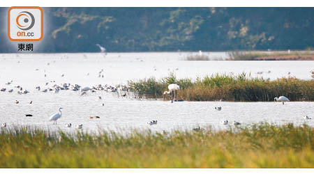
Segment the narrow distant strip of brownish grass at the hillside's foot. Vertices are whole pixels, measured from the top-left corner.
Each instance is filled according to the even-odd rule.
[[[314,52],[228,52],[229,61],[297,60],[314,56]]]

